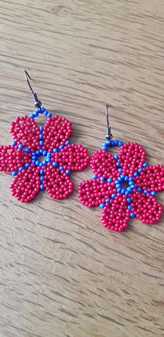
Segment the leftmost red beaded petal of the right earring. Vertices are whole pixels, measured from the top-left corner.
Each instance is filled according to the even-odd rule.
[[[78,197],[85,206],[99,206],[101,203],[104,204],[106,199],[115,191],[113,183],[106,183],[99,179],[90,179],[79,183]]]

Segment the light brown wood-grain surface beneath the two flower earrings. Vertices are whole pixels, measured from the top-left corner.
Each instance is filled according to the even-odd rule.
[[[164,162],[163,0],[1,0],[0,13],[1,144],[16,115],[33,111],[27,69],[90,155],[104,141],[108,102],[115,138]],[[1,337],[163,336],[164,217],[105,230],[101,211],[77,198],[91,174],[72,174],[67,200],[40,192],[21,204],[1,173]]]

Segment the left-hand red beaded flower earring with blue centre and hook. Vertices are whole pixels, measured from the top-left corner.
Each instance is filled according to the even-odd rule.
[[[65,117],[52,116],[38,100],[31,88],[28,72],[24,71],[31,89],[35,111],[31,115],[16,117],[11,123],[12,145],[0,145],[0,171],[11,172],[12,195],[20,202],[30,202],[40,190],[46,189],[54,199],[65,199],[73,192],[69,179],[72,171],[88,166],[88,150],[72,144],[69,135],[72,124]],[[44,115],[44,126],[35,123],[35,117]]]

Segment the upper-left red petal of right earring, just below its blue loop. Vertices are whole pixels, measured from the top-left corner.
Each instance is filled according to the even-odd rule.
[[[107,151],[96,151],[91,159],[90,166],[97,176],[115,179],[118,176],[115,158]]]

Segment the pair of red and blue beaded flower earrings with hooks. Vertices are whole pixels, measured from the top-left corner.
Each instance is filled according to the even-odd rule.
[[[143,223],[159,221],[163,208],[155,199],[164,190],[164,166],[145,163],[145,150],[137,142],[113,140],[106,105],[106,142],[93,154],[69,141],[72,124],[65,117],[52,116],[33,91],[28,72],[24,71],[31,89],[35,111],[16,117],[11,123],[12,145],[0,145],[0,171],[10,172],[12,195],[20,202],[30,202],[40,190],[47,190],[53,199],[66,199],[73,192],[69,179],[72,171],[82,171],[89,163],[92,179],[79,183],[79,199],[88,207],[103,209],[101,222],[113,231],[123,231],[130,217]],[[35,118],[47,117],[44,126]],[[108,148],[120,147],[118,155]]]

